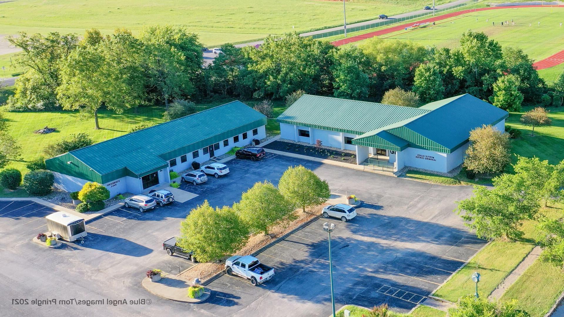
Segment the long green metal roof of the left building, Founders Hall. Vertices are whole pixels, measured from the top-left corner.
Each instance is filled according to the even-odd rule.
[[[102,175],[102,182],[108,182],[126,175],[140,177],[152,173],[168,166],[168,160],[174,157],[263,125],[266,125],[266,116],[237,100],[68,154],[95,171],[95,174]],[[64,158],[50,158],[47,164],[64,174],[69,174],[64,168],[77,169],[59,164],[58,160]],[[91,178],[96,177],[90,175]]]

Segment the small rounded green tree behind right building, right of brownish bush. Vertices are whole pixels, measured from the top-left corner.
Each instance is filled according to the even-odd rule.
[[[443,99],[443,81],[437,65],[423,63],[417,67],[413,78],[413,92],[424,103]]]

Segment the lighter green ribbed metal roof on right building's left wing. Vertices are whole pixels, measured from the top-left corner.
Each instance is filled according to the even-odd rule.
[[[429,110],[358,100],[303,95],[276,121],[351,134],[363,134]]]

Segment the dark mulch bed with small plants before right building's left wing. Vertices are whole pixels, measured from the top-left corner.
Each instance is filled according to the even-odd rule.
[[[325,160],[332,160],[337,162],[346,162],[356,164],[356,156],[349,152],[339,151],[337,149],[316,148],[315,146],[305,146],[298,143],[284,142],[276,140],[272,143],[266,144],[263,148],[274,149],[276,151],[289,152],[294,154],[325,158]]]

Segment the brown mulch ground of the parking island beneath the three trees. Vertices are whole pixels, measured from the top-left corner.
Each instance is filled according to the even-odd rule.
[[[240,250],[237,250],[235,254],[246,255],[257,252],[257,250],[261,249],[263,246],[266,246],[272,241],[275,241],[279,237],[301,226],[303,223],[315,218],[321,213],[321,209],[324,206],[325,205],[319,205],[306,209],[305,213],[301,209],[296,210],[296,213],[298,214],[298,218],[296,220],[287,224],[280,224],[279,226],[272,227],[269,235],[259,234],[250,236],[247,244]],[[200,263],[199,265],[193,266],[187,271],[182,272],[180,276],[187,278],[188,280],[199,278],[201,281],[205,281],[211,278],[211,276],[223,271],[224,268],[225,259],[222,259],[217,262]]]

